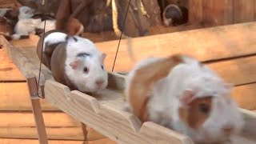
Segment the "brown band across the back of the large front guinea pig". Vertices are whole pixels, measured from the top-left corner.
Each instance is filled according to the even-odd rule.
[[[152,62],[136,71],[130,82],[129,97],[134,114],[142,122],[147,121],[146,106],[150,98],[151,86],[154,82],[166,77],[174,66],[182,62],[182,57],[177,54]]]

